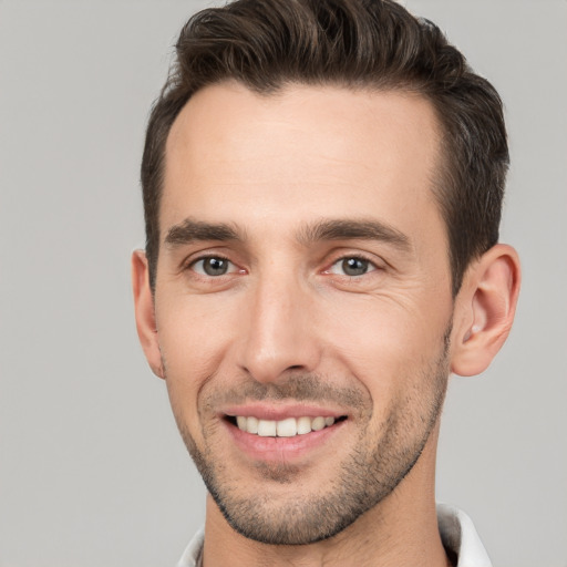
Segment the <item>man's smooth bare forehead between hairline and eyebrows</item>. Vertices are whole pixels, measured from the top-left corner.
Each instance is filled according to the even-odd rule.
[[[206,87],[167,140],[162,235],[188,216],[281,229],[338,216],[377,215],[402,230],[424,215],[440,223],[439,140],[432,105],[411,93]]]

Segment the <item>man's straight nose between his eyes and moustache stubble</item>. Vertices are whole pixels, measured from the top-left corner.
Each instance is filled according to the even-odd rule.
[[[259,279],[243,321],[239,365],[265,383],[282,381],[289,371],[315,371],[321,349],[315,303],[308,285],[297,278]]]

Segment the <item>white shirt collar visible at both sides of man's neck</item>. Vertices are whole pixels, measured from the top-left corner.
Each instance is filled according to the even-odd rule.
[[[437,504],[437,523],[443,546],[456,556],[456,567],[492,567],[473,520],[462,511]],[[185,549],[177,567],[203,567],[205,532],[199,529]]]

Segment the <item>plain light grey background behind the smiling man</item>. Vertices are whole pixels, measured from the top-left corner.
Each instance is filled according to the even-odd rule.
[[[524,286],[482,378],[454,379],[439,498],[495,565],[567,566],[567,2],[410,0],[505,103],[503,240]],[[0,0],[0,566],[174,565],[204,513],[135,334],[138,162],[206,2]]]

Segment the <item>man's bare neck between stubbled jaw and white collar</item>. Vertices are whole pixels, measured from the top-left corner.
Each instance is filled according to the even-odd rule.
[[[284,546],[248,539],[229,526],[207,496],[204,566],[450,566],[435,512],[435,437],[394,492],[337,536],[315,544]]]

